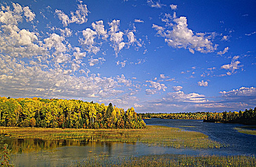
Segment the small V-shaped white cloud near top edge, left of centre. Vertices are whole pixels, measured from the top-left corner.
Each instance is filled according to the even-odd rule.
[[[87,9],[87,5],[85,4],[78,4],[77,10],[70,11],[71,18],[66,15],[62,10],[55,10],[55,14],[58,16],[59,20],[62,21],[62,24],[64,27],[68,26],[70,23],[77,23],[77,24],[83,24],[87,22],[87,16],[88,16],[89,10]]]

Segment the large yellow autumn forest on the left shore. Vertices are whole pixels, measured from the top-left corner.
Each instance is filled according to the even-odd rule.
[[[144,128],[131,107],[81,100],[0,97],[0,126],[60,128]]]

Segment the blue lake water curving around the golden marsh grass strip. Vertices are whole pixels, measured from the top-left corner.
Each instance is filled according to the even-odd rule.
[[[145,146],[116,142],[100,143],[68,140],[7,139],[11,146],[15,166],[54,167],[64,166],[85,157],[106,154],[110,157],[143,156],[154,154],[187,155],[256,155],[256,136],[238,133],[234,127],[240,124],[203,123],[202,120],[147,119],[147,125],[181,127],[184,130],[199,131],[212,140],[229,145],[220,149],[175,149],[170,147]]]

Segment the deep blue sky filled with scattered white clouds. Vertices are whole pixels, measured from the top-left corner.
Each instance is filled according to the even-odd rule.
[[[0,0],[0,96],[256,107],[256,0]]]

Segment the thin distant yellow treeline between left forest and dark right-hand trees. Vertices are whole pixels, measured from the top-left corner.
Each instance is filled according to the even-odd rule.
[[[147,118],[161,118],[161,119],[205,119],[207,117],[206,112],[195,113],[142,113],[139,114],[143,119]]]

